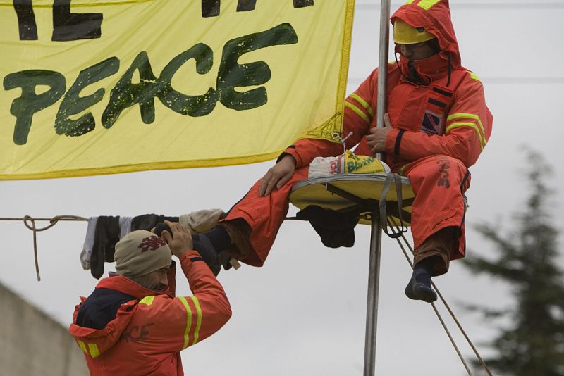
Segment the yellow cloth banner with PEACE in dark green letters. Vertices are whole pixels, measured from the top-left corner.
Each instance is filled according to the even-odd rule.
[[[0,179],[253,163],[341,129],[354,0],[0,0]]]

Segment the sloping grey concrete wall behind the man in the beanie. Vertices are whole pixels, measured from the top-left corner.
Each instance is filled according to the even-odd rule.
[[[0,376],[89,375],[67,327],[0,284]]]

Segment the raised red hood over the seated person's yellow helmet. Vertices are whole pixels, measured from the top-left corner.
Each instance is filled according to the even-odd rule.
[[[393,25],[396,18],[400,18],[414,27],[424,27],[425,30],[439,39],[441,57],[448,60],[453,68],[460,68],[462,60],[458,41],[454,32],[453,22],[450,20],[448,0],[412,0],[393,13],[390,20]],[[396,52],[399,52],[396,50]],[[446,54],[448,52],[448,54]]]

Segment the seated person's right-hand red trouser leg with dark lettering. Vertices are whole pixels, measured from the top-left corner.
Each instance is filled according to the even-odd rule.
[[[405,167],[405,175],[410,178],[415,193],[411,232],[416,251],[421,249],[431,234],[446,227],[457,227],[460,228],[460,237],[458,246],[457,242],[449,246],[450,260],[464,257],[465,208],[462,194],[470,187],[470,176],[465,180],[463,187],[460,187],[460,184],[467,170],[458,159],[441,155],[422,158]]]

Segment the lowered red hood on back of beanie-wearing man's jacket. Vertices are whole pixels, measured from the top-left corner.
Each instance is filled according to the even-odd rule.
[[[140,299],[143,299],[145,296],[165,294],[168,292],[168,290],[156,292],[147,289],[126,277],[118,275],[104,278],[97,284],[96,288],[115,290],[130,295],[135,299],[121,304],[116,313],[116,318],[109,321],[106,327],[102,329],[92,329],[90,327],[81,327],[77,324],[78,311],[80,311],[81,304],[86,301],[86,298],[80,297],[81,303],[75,307],[73,323],[69,327],[69,331],[78,341],[78,345],[82,351],[90,353],[94,358],[110,349],[120,339],[131,318],[133,318],[133,314],[137,309],[137,302]],[[97,356],[94,356],[96,354]]]

